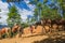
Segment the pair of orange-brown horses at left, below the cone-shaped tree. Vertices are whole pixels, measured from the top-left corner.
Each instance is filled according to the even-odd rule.
[[[0,29],[0,39],[3,38],[12,38],[14,34],[18,33],[22,31],[22,27],[17,24],[15,24],[12,28],[10,27],[4,27]]]

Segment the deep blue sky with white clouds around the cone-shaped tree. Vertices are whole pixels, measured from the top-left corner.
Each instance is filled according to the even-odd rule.
[[[25,1],[20,2],[18,4],[17,2],[8,3],[6,0],[0,0],[0,9],[1,9],[0,23],[6,24],[9,8],[13,4],[15,4],[15,6],[17,8],[18,13],[21,14],[21,17],[23,18],[23,22],[26,20],[27,16],[32,16],[35,5],[28,4],[28,2],[29,0],[25,0]]]

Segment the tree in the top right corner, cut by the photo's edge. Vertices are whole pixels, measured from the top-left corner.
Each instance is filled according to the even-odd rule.
[[[52,2],[55,2],[60,8],[60,12],[62,11],[62,15],[65,18],[65,0],[51,0]],[[51,6],[54,4],[52,3]]]

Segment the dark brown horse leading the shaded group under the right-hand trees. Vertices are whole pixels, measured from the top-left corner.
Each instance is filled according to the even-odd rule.
[[[42,33],[43,33],[43,31],[49,32],[50,31],[50,27],[51,27],[51,19],[41,19],[40,22],[37,22],[35,24],[35,29],[39,25],[42,26]]]

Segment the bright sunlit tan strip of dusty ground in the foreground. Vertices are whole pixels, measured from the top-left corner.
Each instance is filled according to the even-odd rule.
[[[47,39],[48,35],[36,35],[29,38],[12,38],[0,40],[0,43],[32,43],[34,41],[40,41]]]

